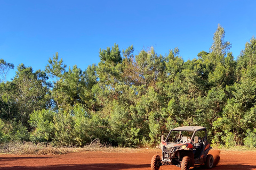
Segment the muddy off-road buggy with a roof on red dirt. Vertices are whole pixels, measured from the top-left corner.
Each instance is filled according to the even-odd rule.
[[[181,170],[199,164],[205,164],[207,168],[214,166],[214,158],[208,154],[212,147],[202,126],[183,126],[171,130],[165,140],[162,135],[159,148],[162,159],[159,155],[153,156],[152,170],[158,170],[162,165],[176,165]]]

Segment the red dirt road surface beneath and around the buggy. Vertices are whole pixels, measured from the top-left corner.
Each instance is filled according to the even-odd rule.
[[[148,169],[151,157],[158,152],[95,152],[85,151],[66,155],[5,155],[0,154],[0,169]],[[161,166],[160,169],[180,169],[175,166]],[[194,167],[203,170],[204,167]],[[256,151],[221,151],[217,169],[256,169]]]

